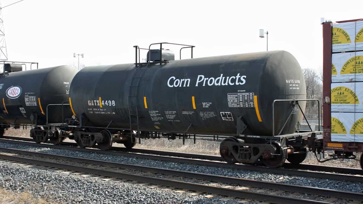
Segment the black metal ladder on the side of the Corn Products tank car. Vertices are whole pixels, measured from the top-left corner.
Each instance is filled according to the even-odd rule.
[[[142,66],[136,66],[134,76],[131,79],[130,90],[129,90],[129,119],[130,119],[130,136],[131,143],[134,142],[132,137],[132,131],[136,131],[136,135],[139,138],[139,143],[141,143],[140,132],[139,132],[139,114],[138,114],[138,87],[140,80],[144,74],[145,68]]]

